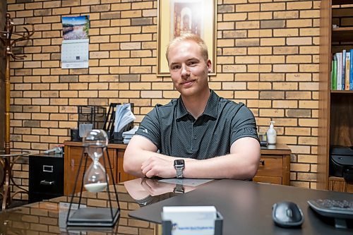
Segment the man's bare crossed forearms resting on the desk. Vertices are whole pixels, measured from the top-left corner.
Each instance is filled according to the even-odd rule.
[[[134,135],[126,147],[124,171],[138,177],[174,178],[174,159],[185,160],[185,178],[251,179],[258,169],[260,144],[255,138],[240,138],[230,147],[229,155],[198,160],[162,155],[148,138]]]

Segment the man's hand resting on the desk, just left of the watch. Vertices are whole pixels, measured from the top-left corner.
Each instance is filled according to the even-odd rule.
[[[151,178],[159,176],[162,178],[174,178],[177,171],[174,169],[174,159],[162,159],[160,157],[150,157],[141,166],[142,173]]]

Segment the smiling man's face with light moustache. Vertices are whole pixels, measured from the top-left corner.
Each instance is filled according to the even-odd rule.
[[[169,50],[168,59],[170,76],[181,96],[189,97],[209,90],[207,78],[211,61],[203,59],[196,42],[179,42]]]

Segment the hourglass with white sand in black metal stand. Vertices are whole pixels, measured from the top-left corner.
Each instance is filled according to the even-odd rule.
[[[104,138],[107,137],[107,134],[102,130],[92,130],[93,132],[100,131],[104,133]],[[88,134],[89,135],[89,134]],[[116,192],[116,186],[114,182],[114,176],[112,172],[112,164],[109,159],[109,152],[107,150],[108,138],[107,141],[100,140],[88,140],[89,137],[85,137],[83,140],[83,153],[80,158],[80,166],[83,165],[83,171],[85,174],[80,178],[80,168],[76,174],[75,185],[73,186],[73,193],[71,196],[70,206],[68,207],[68,215],[66,218],[66,224],[68,226],[80,226],[80,227],[112,227],[119,219],[120,215],[120,205],[119,198]],[[93,139],[97,136],[93,135]],[[98,137],[99,138],[99,137]],[[88,171],[88,155],[92,158],[92,164]],[[102,157],[103,167],[98,160]],[[91,170],[93,169],[93,170]],[[108,175],[108,169],[110,171],[110,176]],[[112,179],[112,185],[109,186],[109,177]],[[81,181],[80,191],[75,194],[77,182]],[[83,207],[81,204],[83,199],[83,187],[90,193],[100,193],[106,189],[108,195],[108,207]],[[114,188],[114,191],[111,191],[111,187]],[[74,203],[74,198],[78,198],[78,205]],[[117,207],[113,207],[112,200],[116,198]],[[77,200],[76,200],[77,202]],[[73,204],[77,205],[78,209],[73,210]],[[71,213],[72,212],[72,213]]]

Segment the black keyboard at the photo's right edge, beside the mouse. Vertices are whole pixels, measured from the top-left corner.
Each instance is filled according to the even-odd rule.
[[[308,200],[309,206],[325,217],[335,218],[335,227],[347,229],[345,219],[353,219],[353,200]]]

